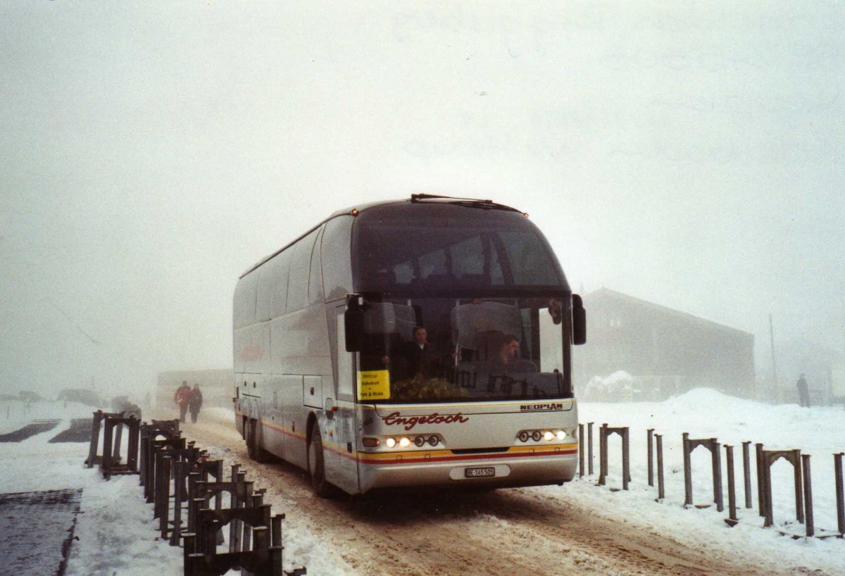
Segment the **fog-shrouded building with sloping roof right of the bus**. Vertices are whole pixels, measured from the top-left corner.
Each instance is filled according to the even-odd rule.
[[[624,398],[661,399],[701,386],[755,394],[754,334],[602,288],[584,298],[587,343],[575,348],[576,392],[613,381]],[[621,373],[620,373],[621,372]],[[580,388],[579,388],[580,387]],[[613,399],[607,397],[595,399]]]

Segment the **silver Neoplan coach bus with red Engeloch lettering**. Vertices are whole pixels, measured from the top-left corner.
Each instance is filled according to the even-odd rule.
[[[237,429],[320,496],[563,483],[584,340],[581,297],[520,211],[414,194],[336,212],[237,283]]]

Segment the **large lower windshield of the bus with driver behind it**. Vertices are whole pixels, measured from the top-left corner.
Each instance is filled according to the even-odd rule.
[[[572,396],[560,296],[364,303],[360,399],[477,402]],[[374,392],[373,392],[374,390]]]

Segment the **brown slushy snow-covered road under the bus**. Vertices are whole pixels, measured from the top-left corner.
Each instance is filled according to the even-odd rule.
[[[264,501],[272,504],[274,513],[286,513],[288,525],[306,526],[321,553],[346,563],[344,573],[810,573],[776,564],[774,558],[738,559],[735,550],[706,541],[691,546],[658,533],[648,519],[608,518],[592,503],[580,502],[577,491],[572,498],[561,497],[560,492],[575,484],[469,495],[323,500],[313,497],[301,470],[250,461],[228,414],[226,418],[209,410],[198,424],[184,425],[185,435],[212,457],[225,459],[226,465],[242,463],[248,478],[267,490]],[[606,505],[612,505],[609,492],[607,496]]]

